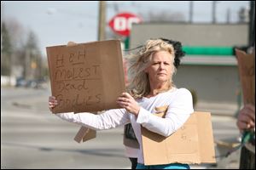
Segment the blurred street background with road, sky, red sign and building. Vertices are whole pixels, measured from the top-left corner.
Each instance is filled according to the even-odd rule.
[[[1,1],[1,168],[130,168],[123,127],[77,144],[79,127],[49,113],[46,47],[120,39],[125,55],[157,37],[183,43],[174,82],[212,113],[217,163],[194,167],[238,168],[239,150],[223,155],[240,142],[234,49],[253,46],[254,1]]]

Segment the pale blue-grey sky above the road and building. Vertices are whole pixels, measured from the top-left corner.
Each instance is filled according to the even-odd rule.
[[[1,1],[1,20],[17,20],[27,30],[38,37],[39,48],[46,56],[46,47],[73,42],[97,41],[98,1]],[[194,1],[195,23],[212,21],[212,1]],[[228,8],[230,22],[236,23],[239,9],[249,8],[248,1],[218,1],[216,20],[226,21]],[[167,11],[182,13],[189,20],[189,1],[108,1],[106,22],[120,12],[133,14],[160,13]],[[107,26],[108,28],[108,26]],[[109,28],[108,28],[109,29]]]

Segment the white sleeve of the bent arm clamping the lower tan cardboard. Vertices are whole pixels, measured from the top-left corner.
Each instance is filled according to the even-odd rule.
[[[183,126],[191,113],[194,112],[192,95],[185,88],[178,89],[178,92],[168,107],[164,118],[154,116],[149,111],[141,108],[137,116],[137,123],[142,124],[148,130],[159,133],[163,136],[170,136]]]

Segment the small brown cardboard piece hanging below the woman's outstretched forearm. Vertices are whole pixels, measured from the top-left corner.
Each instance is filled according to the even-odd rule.
[[[96,138],[96,130],[92,130],[88,127],[80,127],[79,132],[74,137],[74,140],[80,143]]]

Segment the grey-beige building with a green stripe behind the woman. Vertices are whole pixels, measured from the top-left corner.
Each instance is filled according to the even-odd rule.
[[[165,37],[183,43],[185,47],[244,47],[248,43],[247,24],[143,23],[132,26],[130,48],[142,45],[149,38]],[[195,93],[196,111],[236,116],[241,105],[236,56],[222,54],[187,54],[174,76],[177,88]]]

